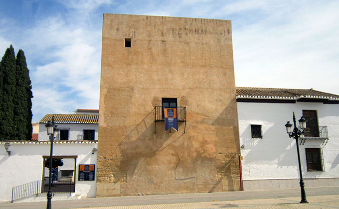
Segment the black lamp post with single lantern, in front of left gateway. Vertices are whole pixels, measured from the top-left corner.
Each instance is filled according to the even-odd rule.
[[[54,115],[52,116],[52,122],[48,121],[45,125],[47,128],[47,135],[49,135],[49,141],[51,143],[51,150],[49,155],[49,182],[48,182],[48,193],[47,193],[47,209],[52,209],[52,161],[53,161],[53,141],[54,138],[58,135],[59,128],[54,124]]]

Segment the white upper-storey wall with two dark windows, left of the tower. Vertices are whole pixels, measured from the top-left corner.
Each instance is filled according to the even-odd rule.
[[[49,141],[49,136],[47,135],[47,130],[45,127],[46,123],[39,124],[39,141]],[[98,124],[78,124],[78,123],[55,123],[58,125],[58,128],[70,128],[69,129],[69,139],[68,140],[83,140],[83,130],[91,129],[95,130],[94,140],[98,140]],[[57,137],[58,139],[58,137]]]

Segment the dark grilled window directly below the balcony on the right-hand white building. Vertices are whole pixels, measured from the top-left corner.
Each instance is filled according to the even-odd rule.
[[[305,148],[307,171],[324,171],[321,148]]]

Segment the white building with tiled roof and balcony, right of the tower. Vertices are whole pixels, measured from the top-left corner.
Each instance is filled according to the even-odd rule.
[[[300,155],[305,187],[339,186],[339,96],[310,90],[237,88],[243,189],[299,187],[296,141],[285,124],[307,122]]]

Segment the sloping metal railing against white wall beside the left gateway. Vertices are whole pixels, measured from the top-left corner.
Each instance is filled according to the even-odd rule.
[[[16,186],[12,188],[12,203],[13,201],[27,198],[30,196],[36,195],[38,197],[38,194],[41,193],[41,181],[35,181],[30,182],[27,184],[23,184],[20,186]]]

